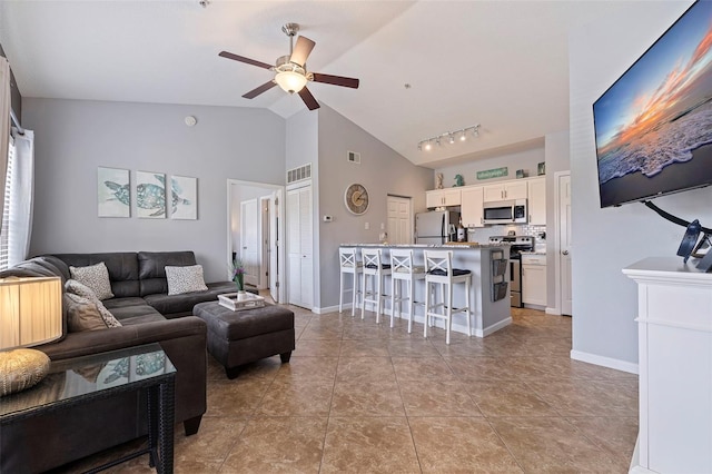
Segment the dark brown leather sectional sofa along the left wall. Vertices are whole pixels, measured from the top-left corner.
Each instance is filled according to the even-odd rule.
[[[34,348],[50,359],[159,343],[177,368],[176,423],[186,435],[198,432],[206,412],[206,324],[192,307],[235,290],[231,282],[209,283],[207,292],[168,295],[165,266],[195,265],[192,251],[44,255],[0,273],[8,276],[70,278],[69,266],[103,261],[113,298],[102,303],[122,327],[68,333]],[[97,401],[53,412],[0,432],[0,472],[42,472],[146,434],[146,393]]]

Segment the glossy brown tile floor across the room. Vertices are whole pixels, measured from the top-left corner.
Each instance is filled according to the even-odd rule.
[[[568,317],[513,308],[511,326],[447,346],[419,324],[293,309],[289,364],[229,381],[210,358],[208,411],[197,435],[177,429],[176,472],[627,472],[637,376],[572,361]],[[111,472],[151,470],[142,456]]]

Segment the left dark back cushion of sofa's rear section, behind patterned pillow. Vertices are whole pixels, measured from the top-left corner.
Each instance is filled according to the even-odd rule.
[[[138,259],[135,251],[111,251],[102,254],[53,254],[67,265],[87,267],[103,261],[109,270],[111,293],[116,297],[140,296],[138,283]]]

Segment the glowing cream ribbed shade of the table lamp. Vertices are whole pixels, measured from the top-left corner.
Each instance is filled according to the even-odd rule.
[[[61,336],[59,277],[0,278],[0,350],[37,346]]]

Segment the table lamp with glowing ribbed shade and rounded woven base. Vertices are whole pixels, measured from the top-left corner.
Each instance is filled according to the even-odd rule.
[[[62,336],[59,277],[0,278],[0,396],[40,382],[49,357],[28,347]]]

